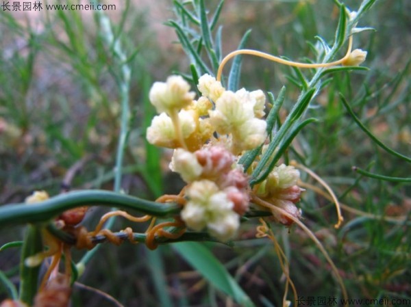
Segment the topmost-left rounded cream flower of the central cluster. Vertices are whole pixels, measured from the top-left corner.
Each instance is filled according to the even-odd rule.
[[[187,107],[195,97],[190,91],[190,85],[181,76],[171,76],[166,83],[155,82],[149,92],[151,104],[158,113],[171,114]]]

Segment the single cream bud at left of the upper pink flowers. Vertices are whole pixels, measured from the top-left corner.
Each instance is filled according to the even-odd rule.
[[[203,168],[197,161],[196,155],[182,148],[174,150],[170,169],[173,172],[179,173],[186,183],[197,180],[201,172],[203,172]]]

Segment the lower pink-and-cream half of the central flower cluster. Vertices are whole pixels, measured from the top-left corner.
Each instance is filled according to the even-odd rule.
[[[196,152],[174,150],[170,168],[184,181],[188,201],[182,219],[194,230],[207,228],[221,241],[231,239],[240,216],[249,207],[247,176],[235,167],[235,157],[221,146],[205,146]]]

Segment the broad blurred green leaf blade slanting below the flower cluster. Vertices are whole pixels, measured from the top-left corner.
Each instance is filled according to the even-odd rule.
[[[236,280],[206,247],[195,242],[180,242],[173,244],[173,248],[216,289],[232,297],[241,306],[254,306]]]

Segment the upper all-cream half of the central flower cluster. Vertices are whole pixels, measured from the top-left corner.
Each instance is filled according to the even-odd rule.
[[[210,75],[203,75],[198,85],[201,96],[197,101],[182,77],[172,76],[166,83],[155,82],[150,90],[151,103],[160,113],[147,129],[151,144],[166,148],[201,148],[213,133],[235,155],[256,148],[266,139],[265,95],[261,90],[227,91]],[[214,104],[214,107],[213,107]],[[177,114],[177,119],[173,119]],[[182,139],[178,138],[178,121]],[[214,142],[216,139],[214,139]]]

